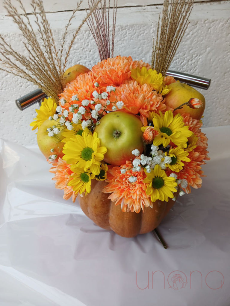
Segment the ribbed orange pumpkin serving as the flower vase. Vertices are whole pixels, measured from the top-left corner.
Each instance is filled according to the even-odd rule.
[[[121,205],[108,200],[108,193],[102,189],[107,183],[105,181],[92,180],[91,192],[86,196],[79,196],[78,200],[82,211],[94,223],[105,230],[113,230],[122,237],[135,237],[138,234],[151,232],[159,226],[162,219],[170,211],[175,201],[156,201],[153,208],[145,207],[144,212],[123,212]],[[179,190],[175,194],[177,197]]]

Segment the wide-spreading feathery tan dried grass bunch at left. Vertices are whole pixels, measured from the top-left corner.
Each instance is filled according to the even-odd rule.
[[[71,41],[67,43],[69,26],[75,17],[76,11],[79,10],[82,1],[77,3],[77,7],[73,10],[72,16],[65,27],[65,32],[57,47],[41,0],[32,0],[31,2],[33,8],[32,15],[35,17],[35,23],[37,25],[36,30],[33,28],[21,0],[17,0],[22,10],[21,14],[17,12],[11,0],[5,0],[4,7],[8,15],[13,18],[14,23],[21,30],[23,44],[27,54],[23,55],[15,51],[5,41],[2,35],[0,35],[0,63],[2,64],[0,70],[12,73],[15,76],[20,76],[36,84],[48,96],[51,96],[56,101],[59,100],[58,94],[63,92],[63,73],[66,69],[67,59],[75,38],[82,28],[82,25],[101,1],[94,2],[87,16],[76,29]],[[67,52],[64,52],[65,48]]]

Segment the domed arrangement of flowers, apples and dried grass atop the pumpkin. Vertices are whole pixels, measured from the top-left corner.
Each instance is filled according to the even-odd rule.
[[[101,61],[91,69],[75,65],[67,70],[67,59],[63,68],[57,61],[58,86],[48,84],[48,98],[31,123],[52,164],[55,186],[65,200],[75,202],[96,188],[95,181],[103,181],[101,192],[123,214],[149,211],[159,201],[174,203],[178,194],[201,187],[201,165],[209,159],[200,120],[204,97],[166,75],[193,1],[173,0],[171,9],[165,1],[151,65],[113,56],[117,4],[110,42],[106,3],[100,8],[100,1],[90,3],[86,20]],[[42,11],[40,1],[33,5]],[[177,26],[169,29],[172,20]],[[167,52],[162,53],[162,45]],[[42,89],[46,92],[45,84]]]

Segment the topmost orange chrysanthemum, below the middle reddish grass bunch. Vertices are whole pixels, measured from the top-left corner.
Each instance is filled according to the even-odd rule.
[[[116,56],[115,58],[107,58],[99,62],[92,68],[94,77],[100,86],[109,85],[119,86],[124,80],[129,80],[131,70],[139,67],[150,69],[151,66],[143,61],[133,61],[131,56]]]

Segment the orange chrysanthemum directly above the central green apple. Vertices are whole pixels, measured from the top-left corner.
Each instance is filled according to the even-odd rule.
[[[140,113],[140,120],[144,125],[147,125],[149,112],[159,113],[159,110],[166,109],[162,95],[153,91],[149,84],[140,86],[133,80],[124,82],[111,93],[110,101],[115,102],[116,99],[124,103],[123,111],[132,114]]]

